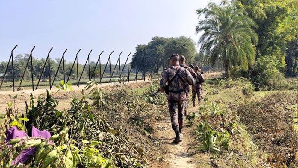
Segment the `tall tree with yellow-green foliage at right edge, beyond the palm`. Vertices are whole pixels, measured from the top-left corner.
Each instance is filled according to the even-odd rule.
[[[256,57],[277,57],[278,67],[285,63],[291,71],[297,55],[297,0],[237,0],[255,20],[259,36]],[[286,57],[286,58],[285,58]],[[286,62],[285,62],[286,61]]]

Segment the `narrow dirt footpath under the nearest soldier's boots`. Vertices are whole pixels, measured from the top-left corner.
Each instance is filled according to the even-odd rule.
[[[189,108],[188,111],[195,110],[196,108]],[[155,125],[155,136],[164,141],[164,146],[161,148],[161,152],[164,153],[162,158],[165,160],[165,163],[154,164],[151,167],[159,168],[195,168],[196,164],[192,156],[187,153],[187,149],[190,146],[190,143],[193,142],[193,137],[191,137],[191,130],[187,127],[183,128],[183,141],[179,144],[172,144],[172,141],[175,138],[175,133],[172,130],[170,116],[166,117],[167,119],[158,121],[154,123]]]

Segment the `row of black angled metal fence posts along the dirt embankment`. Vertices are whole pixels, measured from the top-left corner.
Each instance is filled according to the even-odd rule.
[[[0,84],[0,90],[2,88],[2,85],[4,82],[6,81],[11,81],[12,80],[12,85],[9,85],[9,86],[4,86],[7,90],[7,88],[12,88],[13,91],[15,91],[15,89],[17,88],[17,90],[19,90],[21,87],[22,87],[22,83],[23,83],[23,80],[24,80],[24,76],[25,76],[25,73],[26,73],[26,70],[28,69],[31,73],[31,87],[32,87],[32,91],[34,90],[37,90],[40,86],[40,82],[42,80],[44,80],[44,74],[45,74],[45,71],[48,70],[47,72],[49,73],[48,75],[48,79],[46,78],[46,80],[43,81],[43,87],[46,86],[48,87],[50,90],[53,88],[54,86],[54,82],[57,82],[57,74],[59,72],[59,70],[62,68],[62,76],[63,78],[61,80],[63,80],[65,83],[69,82],[70,79],[71,79],[71,74],[72,74],[72,71],[74,71],[76,69],[76,72],[73,72],[73,77],[72,78],[75,78],[75,80],[72,80],[72,81],[75,81],[73,82],[72,84],[76,85],[77,87],[79,87],[80,84],[85,84],[86,82],[81,82],[81,80],[83,79],[82,76],[83,76],[83,73],[85,71],[85,69],[87,70],[87,80],[90,81],[90,80],[95,80],[96,82],[98,82],[100,85],[102,85],[102,83],[112,83],[112,82],[131,82],[131,81],[138,81],[138,80],[149,80],[152,76],[154,75],[157,75],[157,74],[160,74],[161,75],[161,67],[164,68],[164,67],[167,67],[168,66],[168,62],[165,62],[165,64],[163,65],[158,65],[158,67],[156,67],[156,69],[159,69],[158,73],[156,74],[156,72],[154,72],[154,68],[150,67],[149,70],[146,70],[145,69],[145,62],[144,62],[144,58],[145,58],[145,55],[143,56],[138,56],[138,55],[135,55],[136,57],[140,57],[138,59],[142,60],[141,63],[139,63],[139,65],[136,65],[138,61],[134,61],[133,64],[130,65],[130,62],[129,62],[129,57],[131,55],[131,52],[124,57],[125,59],[125,63],[124,65],[120,63],[120,60],[122,60],[123,58],[121,58],[121,55],[122,55],[122,51],[119,53],[118,55],[118,59],[117,59],[117,62],[115,64],[111,64],[111,55],[114,53],[114,51],[110,52],[109,56],[108,56],[108,60],[106,61],[105,63],[105,66],[104,66],[104,69],[102,71],[102,54],[104,53],[104,51],[101,51],[99,53],[99,56],[98,56],[98,59],[97,59],[97,62],[95,64],[95,67],[93,69],[93,71],[91,70],[90,71],[90,54],[91,52],[93,51],[92,49],[90,50],[89,54],[87,55],[87,59],[85,61],[85,64],[81,70],[81,72],[78,71],[78,56],[81,54],[81,49],[78,50],[78,52],[76,53],[76,56],[75,56],[75,59],[74,61],[72,62],[72,66],[70,68],[70,71],[68,72],[68,74],[66,74],[66,70],[65,70],[65,58],[64,58],[64,55],[66,54],[67,50],[68,49],[65,49],[65,51],[63,52],[61,58],[59,61],[57,61],[57,64],[58,64],[58,67],[57,69],[54,67],[51,66],[50,64],[50,61],[51,61],[51,51],[53,49],[53,47],[51,47],[49,49],[49,52],[47,54],[47,57],[45,59],[45,62],[43,64],[43,67],[42,67],[42,70],[41,70],[41,73],[39,74],[39,76],[35,76],[38,80],[35,80],[34,79],[34,67],[33,67],[33,63],[32,63],[32,57],[33,57],[33,52],[34,52],[34,49],[35,49],[35,46],[33,46],[33,48],[31,49],[31,52],[30,52],[30,55],[28,57],[28,60],[26,62],[26,65],[25,65],[25,68],[22,72],[22,77],[21,79],[17,79],[19,82],[18,83],[18,86],[16,86],[16,81],[15,81],[15,67],[14,67],[14,64],[13,64],[13,51],[16,49],[18,45],[16,45],[12,50],[11,50],[11,53],[10,53],[10,57],[9,57],[9,60],[7,62],[7,66],[5,68],[5,72],[4,74],[2,74],[0,76],[0,79],[1,79],[1,84]],[[163,59],[164,60],[164,59]],[[192,58],[189,59],[189,61],[187,62],[187,64],[193,64],[194,61],[190,61],[192,60]],[[29,64],[30,63],[30,64]],[[196,62],[197,63],[197,62]],[[96,67],[98,66],[99,64],[99,78],[98,79],[95,79],[95,71],[96,71]],[[157,60],[155,62],[154,65],[157,64]],[[30,66],[29,66],[30,65]],[[112,65],[114,66],[114,68],[112,69]],[[208,61],[207,60],[204,60],[204,61],[201,61],[199,64],[197,64],[205,73],[213,73],[213,72],[222,72],[223,71],[223,66],[222,64],[217,63],[215,64],[215,66],[211,66],[210,64],[208,64]],[[11,66],[11,67],[10,67]],[[74,68],[76,66],[76,68]],[[88,67],[87,67],[88,66]],[[10,67],[10,68],[9,68]],[[108,69],[107,69],[108,68]],[[123,73],[124,69],[127,68],[127,73]],[[11,70],[11,76],[12,76],[12,79],[5,79],[5,77],[7,76],[7,72],[8,70]],[[106,71],[108,71],[108,75],[107,73],[105,73]],[[52,74],[51,74],[52,72]],[[116,73],[118,73],[118,75],[116,75]],[[134,74],[132,74],[134,72]],[[104,78],[106,79],[104,81]],[[126,79],[125,79],[126,78]],[[45,84],[45,82],[48,82],[48,84]],[[27,84],[28,86],[28,84]],[[2,89],[3,90],[3,89]]]

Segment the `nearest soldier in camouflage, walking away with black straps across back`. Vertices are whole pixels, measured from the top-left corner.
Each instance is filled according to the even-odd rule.
[[[190,72],[179,66],[179,55],[173,54],[170,58],[171,67],[166,69],[160,81],[161,91],[165,91],[166,84],[168,83],[168,104],[171,116],[172,128],[175,131],[176,137],[173,143],[179,143],[181,139],[181,131],[184,122],[184,111],[186,108],[186,85],[195,83],[194,78]],[[178,72],[178,73],[177,73]],[[177,75],[175,76],[175,74]]]

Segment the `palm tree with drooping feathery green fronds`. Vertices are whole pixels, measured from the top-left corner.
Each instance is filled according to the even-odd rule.
[[[204,32],[198,41],[200,54],[204,54],[212,65],[222,61],[226,78],[229,78],[231,66],[247,70],[254,63],[258,41],[252,29],[255,22],[245,15],[240,5],[210,3],[197,10],[197,14],[205,14],[205,19],[196,26],[196,33]]]

